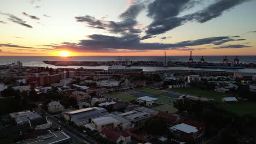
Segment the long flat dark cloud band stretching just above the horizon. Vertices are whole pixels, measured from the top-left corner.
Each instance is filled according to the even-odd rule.
[[[60,45],[44,45],[60,50],[63,48],[72,51],[86,52],[113,52],[118,50],[145,51],[145,50],[190,50],[187,46],[199,46],[205,44],[226,43],[232,41],[231,37],[211,37],[197,40],[181,41],[174,44],[142,43],[138,34],[123,34],[121,37],[93,34],[88,35],[89,39],[80,40],[79,43],[64,42]],[[225,40],[225,41],[224,41]],[[222,44],[223,44],[222,43]],[[195,48],[202,50],[205,48]]]

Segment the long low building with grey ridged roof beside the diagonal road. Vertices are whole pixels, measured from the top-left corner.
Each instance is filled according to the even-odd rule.
[[[65,112],[63,117],[66,121],[74,122],[75,125],[85,125],[91,123],[91,119],[108,114],[106,109],[100,107],[89,107],[75,111]]]

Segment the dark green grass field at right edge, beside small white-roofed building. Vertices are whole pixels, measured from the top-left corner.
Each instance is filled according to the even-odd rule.
[[[219,104],[219,107],[240,116],[249,114],[256,118],[256,103],[241,101],[232,104]]]

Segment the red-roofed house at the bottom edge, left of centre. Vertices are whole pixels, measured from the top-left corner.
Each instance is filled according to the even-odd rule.
[[[120,144],[131,143],[131,135],[129,131],[123,132],[118,127],[112,128],[112,129],[108,129],[104,127],[101,130],[100,135],[106,139],[114,141],[115,143],[120,143]]]

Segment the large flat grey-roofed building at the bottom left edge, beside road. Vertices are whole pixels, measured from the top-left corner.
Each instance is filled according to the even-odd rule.
[[[23,140],[17,143],[20,144],[46,144],[46,143],[51,143],[51,144],[69,144],[71,143],[71,137],[69,137],[66,133],[63,131],[55,131],[53,133],[49,133],[46,135],[41,135],[36,137],[36,139],[28,139],[28,140]]]

